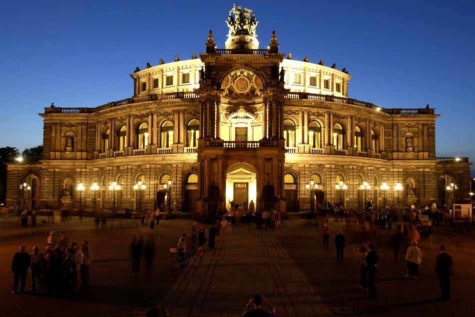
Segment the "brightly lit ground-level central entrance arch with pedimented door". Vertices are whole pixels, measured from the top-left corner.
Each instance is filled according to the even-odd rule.
[[[257,200],[257,171],[254,166],[240,162],[229,166],[226,171],[226,208],[231,201],[239,205]]]

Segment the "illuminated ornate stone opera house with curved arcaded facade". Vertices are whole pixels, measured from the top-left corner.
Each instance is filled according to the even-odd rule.
[[[7,203],[285,214],[470,200],[468,157],[436,157],[433,108],[353,99],[345,68],[292,59],[275,32],[260,49],[257,23],[233,7],[224,49],[210,31],[199,57],[137,67],[130,98],[45,107],[42,159],[8,164]]]

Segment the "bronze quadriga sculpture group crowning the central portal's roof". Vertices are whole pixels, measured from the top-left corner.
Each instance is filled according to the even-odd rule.
[[[240,5],[236,7],[236,4],[234,4],[232,9],[229,10],[229,16],[226,23],[229,27],[228,36],[233,36],[235,34],[257,36],[256,26],[259,21],[256,20],[254,11],[247,7],[242,9]]]

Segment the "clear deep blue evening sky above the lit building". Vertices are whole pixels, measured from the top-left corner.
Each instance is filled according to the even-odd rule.
[[[475,1],[263,0],[253,9],[260,48],[336,63],[349,96],[383,107],[427,103],[437,156],[475,160]],[[219,48],[233,1],[4,0],[0,4],[0,147],[42,143],[43,112],[94,107],[133,94],[136,66],[191,58],[211,29]],[[475,169],[472,168],[472,176]]]

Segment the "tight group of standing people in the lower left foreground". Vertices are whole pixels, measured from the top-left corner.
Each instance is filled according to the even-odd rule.
[[[39,246],[33,246],[32,252],[26,251],[21,245],[11,260],[13,277],[12,292],[24,292],[26,276],[31,275],[30,291],[43,291],[50,296],[70,295],[79,291],[80,287],[89,286],[89,267],[93,253],[87,240],[81,244],[68,243],[64,231],[56,235],[51,231],[47,243],[41,253]]]

